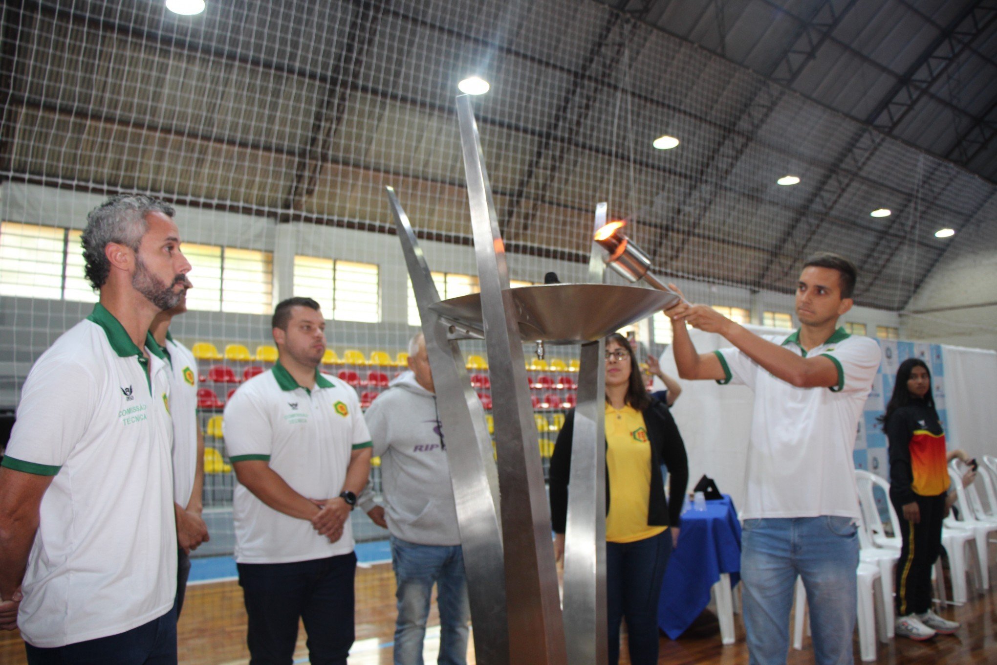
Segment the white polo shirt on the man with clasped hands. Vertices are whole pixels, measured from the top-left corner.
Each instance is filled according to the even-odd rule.
[[[279,362],[235,391],[225,405],[223,428],[232,462],[265,461],[308,499],[338,497],[352,452],[371,445],[353,388],[316,370],[309,391]],[[329,542],[307,519],[274,510],[239,483],[232,512],[239,563],[289,563],[353,551],[349,519],[342,537]]]

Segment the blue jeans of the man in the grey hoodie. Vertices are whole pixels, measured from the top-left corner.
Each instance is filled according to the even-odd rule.
[[[468,658],[468,578],[461,545],[420,545],[391,536],[391,564],[398,590],[395,665],[423,665],[423,639],[433,584],[440,608],[440,665]]]

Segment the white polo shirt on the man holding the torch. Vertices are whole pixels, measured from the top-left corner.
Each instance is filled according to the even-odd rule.
[[[764,337],[805,358],[830,358],[837,385],[797,388],[739,349],[714,351],[727,375],[718,383],[755,391],[743,516],[857,518],[852,451],[858,418],[879,367],[879,345],[843,328],[809,352],[800,346],[799,331]]]

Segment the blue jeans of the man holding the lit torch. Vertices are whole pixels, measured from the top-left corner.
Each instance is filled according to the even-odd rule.
[[[818,665],[850,665],[858,535],[851,517],[745,519],[741,581],[752,665],[785,664],[797,576],[810,606]]]

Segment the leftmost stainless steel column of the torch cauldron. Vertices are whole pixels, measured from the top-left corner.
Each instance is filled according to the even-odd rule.
[[[485,425],[482,403],[471,388],[458,342],[450,339],[449,326],[429,308],[440,300],[440,295],[409,216],[398,202],[394,188],[387,189],[412,278],[412,290],[419,304],[426,353],[433,370],[437,406],[446,437],[447,462],[457,502],[474,621],[475,657],[482,665],[508,665],[498,474],[492,438]]]

